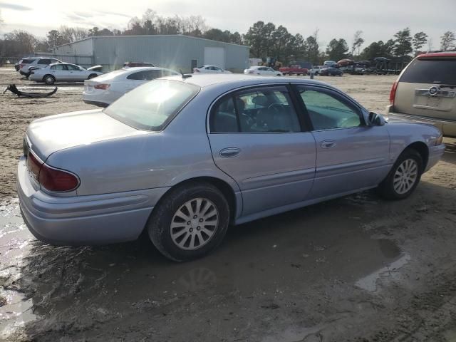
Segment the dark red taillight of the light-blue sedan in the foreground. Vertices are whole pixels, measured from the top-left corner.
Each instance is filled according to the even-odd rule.
[[[28,152],[27,166],[31,177],[46,190],[66,192],[75,190],[79,186],[76,175],[46,165],[31,152]]]

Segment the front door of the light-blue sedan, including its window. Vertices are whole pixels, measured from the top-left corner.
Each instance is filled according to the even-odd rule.
[[[390,138],[385,126],[366,125],[363,110],[324,87],[298,86],[316,140],[312,198],[378,185],[388,174]]]

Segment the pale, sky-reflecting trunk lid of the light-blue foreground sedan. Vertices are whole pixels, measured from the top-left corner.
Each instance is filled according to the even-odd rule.
[[[141,134],[145,132],[111,118],[100,109],[34,120],[26,131],[28,148],[43,161],[58,150]]]

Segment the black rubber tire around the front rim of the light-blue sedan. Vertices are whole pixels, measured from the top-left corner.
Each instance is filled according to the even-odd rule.
[[[417,165],[417,174],[413,185],[403,193],[398,192],[395,190],[395,182],[398,182],[398,177],[396,172],[399,172],[399,168],[403,163],[407,160],[414,160]],[[383,182],[378,185],[378,193],[385,199],[405,199],[415,190],[420,182],[421,175],[423,174],[423,158],[421,157],[420,153],[412,148],[408,148],[404,150],[396,162],[394,163],[393,167],[391,168],[388,176],[383,180]]]

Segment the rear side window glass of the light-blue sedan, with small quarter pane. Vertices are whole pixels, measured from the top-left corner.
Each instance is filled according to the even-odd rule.
[[[298,116],[286,87],[245,90],[214,105],[212,133],[300,132]]]

